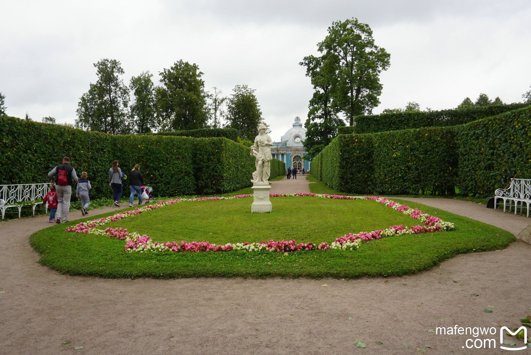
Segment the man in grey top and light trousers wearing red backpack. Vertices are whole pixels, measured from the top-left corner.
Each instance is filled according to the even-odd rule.
[[[57,179],[55,176],[57,175]],[[70,166],[70,158],[64,157],[63,164],[57,165],[48,173],[48,177],[55,181],[55,191],[57,192],[57,214],[55,223],[68,222],[68,210],[70,209],[70,197],[72,196],[72,185],[78,182],[78,175],[75,169]],[[62,219],[62,221],[61,221]]]

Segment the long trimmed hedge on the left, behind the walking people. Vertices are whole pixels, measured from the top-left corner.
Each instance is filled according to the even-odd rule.
[[[156,196],[226,193],[251,185],[254,157],[250,148],[226,138],[135,134],[122,136],[0,116],[0,184],[48,182],[47,173],[71,158],[78,175],[86,171],[91,197],[108,197],[109,168],[118,159],[129,175],[140,164],[145,183]],[[277,159],[271,177],[284,175]],[[275,175],[277,174],[277,175]],[[124,181],[124,195],[129,193]]]

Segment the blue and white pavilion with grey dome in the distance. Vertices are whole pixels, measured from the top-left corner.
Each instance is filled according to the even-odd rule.
[[[293,122],[293,127],[280,137],[280,142],[273,142],[271,147],[273,158],[286,163],[286,168],[291,166],[301,170],[304,167],[305,170],[309,171],[310,162],[303,159],[306,151],[302,142],[305,139],[306,129],[303,127],[300,117],[297,116]]]

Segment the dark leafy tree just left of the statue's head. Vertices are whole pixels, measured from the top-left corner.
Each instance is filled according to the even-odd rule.
[[[254,140],[258,134],[258,121],[262,118],[262,111],[254,89],[247,85],[236,85],[227,99],[227,120],[230,128],[238,130],[240,137]]]

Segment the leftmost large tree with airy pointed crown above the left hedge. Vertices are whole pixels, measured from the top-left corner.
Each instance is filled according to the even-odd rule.
[[[124,73],[120,62],[104,58],[94,63],[98,80],[78,103],[76,126],[112,134],[129,133],[127,114],[129,88],[119,77]]]

